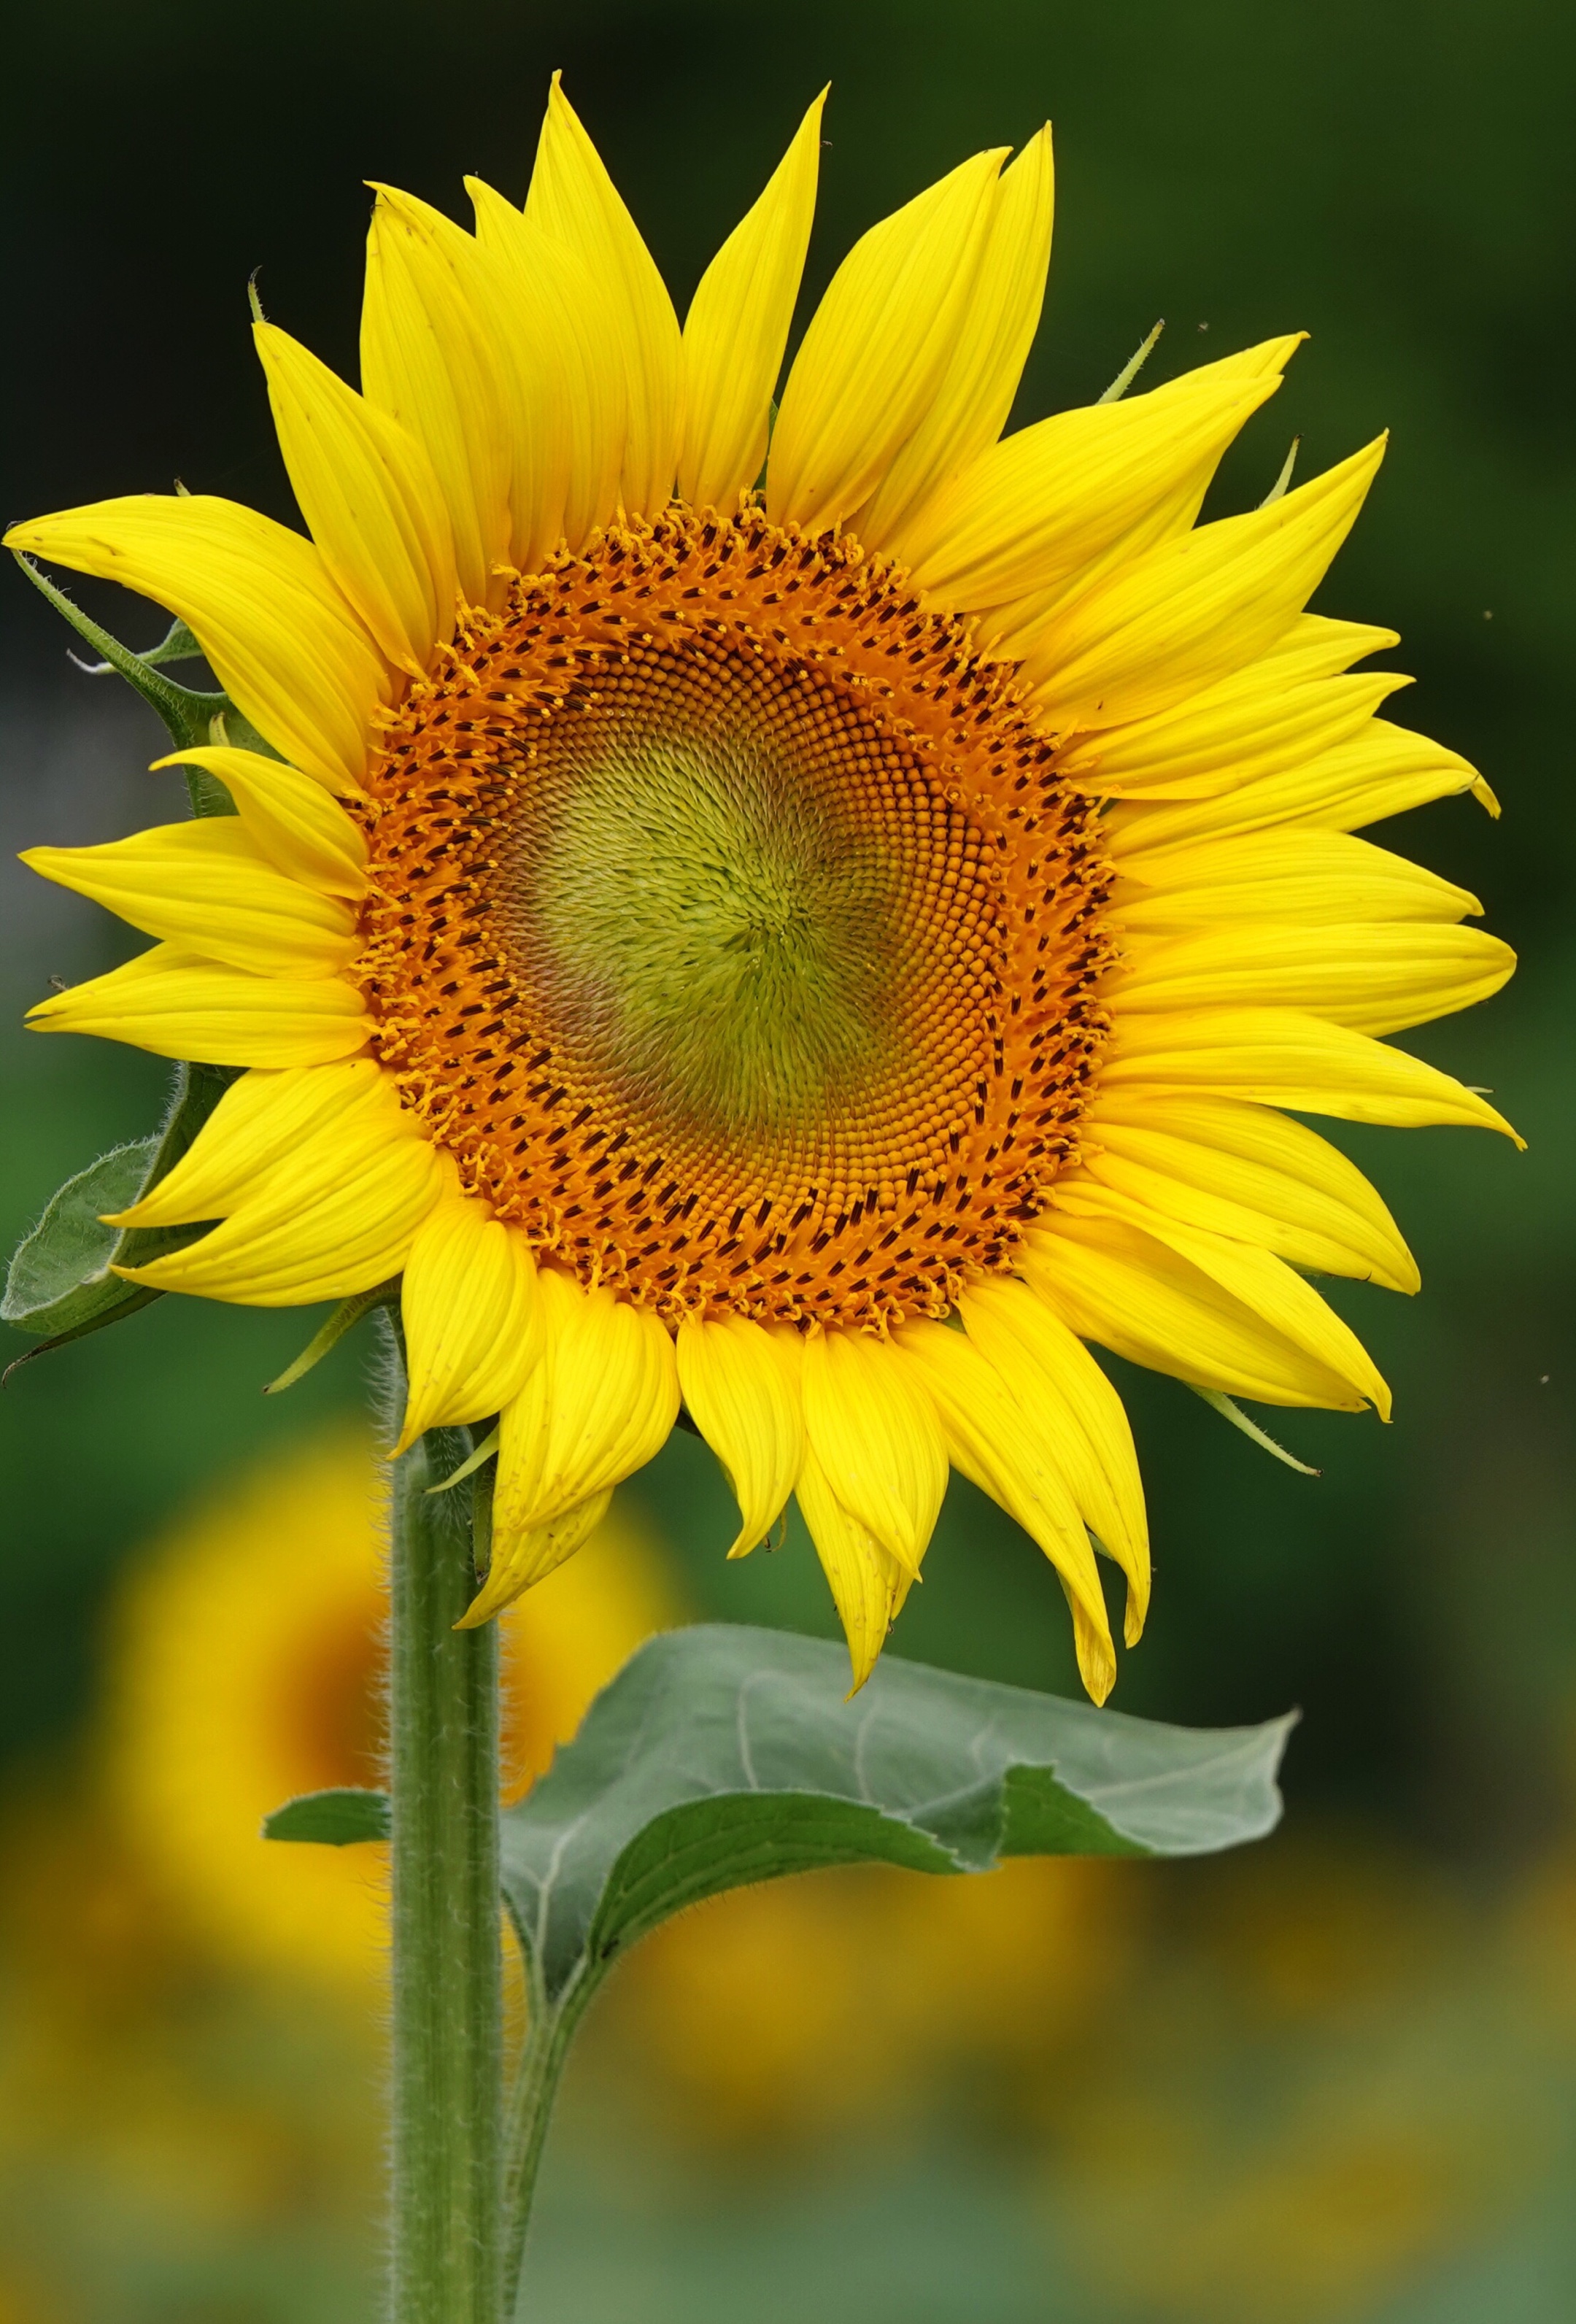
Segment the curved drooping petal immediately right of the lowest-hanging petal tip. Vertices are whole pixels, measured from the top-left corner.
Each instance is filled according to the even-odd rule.
[[[1079,1513],[1127,1576],[1127,1645],[1148,1613],[1148,1518],[1123,1399],[1027,1285],[988,1276],[960,1299],[969,1341],[1055,1446]]]

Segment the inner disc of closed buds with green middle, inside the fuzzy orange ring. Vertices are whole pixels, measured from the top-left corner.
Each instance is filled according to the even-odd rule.
[[[716,1202],[939,1162],[995,981],[979,844],[911,751],[725,641],[593,651],[537,767],[488,902],[586,1095]]]

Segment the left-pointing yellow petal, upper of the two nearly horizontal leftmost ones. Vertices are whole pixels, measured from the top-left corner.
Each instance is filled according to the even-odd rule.
[[[28,848],[21,860],[144,934],[253,976],[332,976],[360,951],[351,909],[274,871],[237,816],[160,823],[102,848]]]

